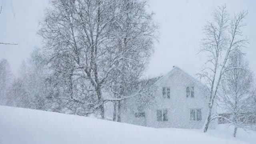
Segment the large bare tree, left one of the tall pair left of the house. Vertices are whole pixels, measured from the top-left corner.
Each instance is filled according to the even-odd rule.
[[[40,35],[50,49],[50,62],[56,72],[65,76],[64,83],[70,99],[74,98],[73,77],[89,80],[96,92],[94,108],[104,118],[101,84],[104,82],[99,63],[104,56],[104,41],[110,24],[116,15],[112,13],[114,2],[53,0],[42,22]],[[112,7],[113,6],[113,7]],[[111,15],[112,14],[112,15]],[[60,67],[64,66],[64,67]]]

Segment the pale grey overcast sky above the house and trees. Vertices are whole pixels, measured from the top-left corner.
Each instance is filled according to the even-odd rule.
[[[250,39],[245,50],[250,67],[256,74],[256,0],[150,0],[150,10],[160,26],[160,39],[150,60],[146,76],[165,74],[173,65],[194,75],[205,61],[197,55],[203,38],[206,20],[212,20],[212,11],[226,4],[230,14],[248,10],[244,34]],[[14,73],[18,73],[22,60],[28,58],[33,48],[41,47],[36,35],[48,0],[0,0],[0,42],[18,45],[0,45],[0,59],[6,58]]]

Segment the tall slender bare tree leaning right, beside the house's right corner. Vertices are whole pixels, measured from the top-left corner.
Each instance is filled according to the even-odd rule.
[[[230,18],[226,11],[226,6],[219,6],[218,10],[213,13],[214,22],[207,22],[204,27],[206,38],[202,39],[200,52],[206,52],[208,54],[208,60],[198,74],[200,79],[206,80],[210,93],[208,103],[209,112],[204,126],[204,132],[207,132],[209,124],[213,119],[212,108],[220,81],[225,72],[235,69],[227,64],[230,53],[234,50],[242,50],[248,42],[242,35],[242,27],[245,26],[243,20],[247,13],[247,11],[242,11],[234,14]]]

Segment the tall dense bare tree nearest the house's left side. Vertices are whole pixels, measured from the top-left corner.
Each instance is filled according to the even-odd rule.
[[[112,60],[119,60],[113,64],[114,69],[109,73],[107,84],[110,86],[106,86],[116,98],[112,99],[113,115],[115,120],[117,108],[118,122],[121,121],[122,101],[145,94],[149,87],[149,83],[143,83],[140,78],[153,53],[153,42],[157,40],[158,26],[152,21],[153,13],[146,12],[147,4],[146,1],[137,0],[120,0],[118,4],[122,15],[113,25],[113,30],[118,36],[114,39],[113,48],[110,47],[109,52]]]

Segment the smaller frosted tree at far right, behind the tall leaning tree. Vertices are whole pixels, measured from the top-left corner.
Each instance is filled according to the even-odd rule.
[[[231,114],[230,118],[225,119],[230,125],[234,125],[233,136],[236,137],[237,128],[250,128],[250,120],[254,116],[250,105],[253,96],[253,76],[248,62],[244,61],[243,55],[239,52],[230,55],[229,63],[234,69],[224,74],[219,106]]]

